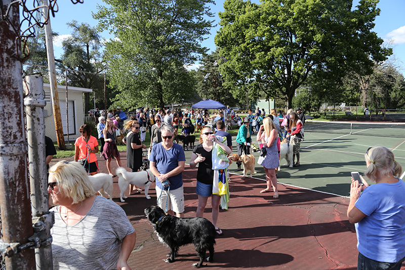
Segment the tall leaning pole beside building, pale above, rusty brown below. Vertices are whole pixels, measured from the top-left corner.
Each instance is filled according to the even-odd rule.
[[[65,139],[63,137],[62,118],[60,115],[58,86],[56,83],[55,56],[54,56],[54,45],[52,43],[51,20],[49,18],[48,0],[43,1],[44,1],[43,4],[44,18],[48,18],[48,23],[45,25],[45,36],[47,44],[48,67],[49,67],[49,84],[51,85],[52,109],[55,120],[56,138],[58,141],[59,149],[65,150],[66,147],[65,147]]]

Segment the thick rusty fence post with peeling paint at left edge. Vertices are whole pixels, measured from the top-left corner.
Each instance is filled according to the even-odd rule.
[[[2,11],[12,0],[0,2]],[[9,10],[8,20],[0,19],[0,209],[2,242],[7,247],[7,269],[35,269],[34,250],[22,249],[32,236],[31,206],[28,195],[27,142],[23,114],[22,66],[16,56],[21,44],[13,26],[20,25],[18,3]],[[4,15],[4,14],[3,14]]]

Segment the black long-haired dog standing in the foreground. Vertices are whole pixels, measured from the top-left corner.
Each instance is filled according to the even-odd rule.
[[[150,206],[145,209],[145,215],[152,223],[159,241],[170,248],[166,262],[174,262],[180,246],[194,244],[199,262],[194,267],[201,267],[206,258],[206,251],[210,251],[208,261],[214,259],[215,232],[214,225],[204,217],[178,218],[166,215],[160,207]]]

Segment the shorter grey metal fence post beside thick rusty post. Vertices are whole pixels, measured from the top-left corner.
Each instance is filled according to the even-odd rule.
[[[44,81],[40,76],[26,76],[24,98],[27,119],[29,181],[34,233],[41,241],[35,248],[37,270],[53,269],[51,228],[54,215],[49,212],[48,179],[45,151]]]

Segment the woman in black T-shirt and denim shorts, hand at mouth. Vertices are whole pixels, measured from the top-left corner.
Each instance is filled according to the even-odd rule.
[[[190,167],[194,168],[198,164],[197,184],[195,188],[195,193],[198,195],[196,217],[203,217],[207,200],[211,197],[212,223],[215,226],[217,234],[222,235],[222,230],[217,226],[221,197],[212,194],[214,181],[214,170],[212,169],[213,141],[225,150],[228,155],[232,152],[227,145],[217,140],[217,137],[214,136],[210,128],[204,128],[201,130],[199,144],[194,147],[193,153],[191,154]]]

